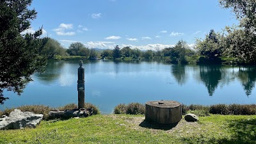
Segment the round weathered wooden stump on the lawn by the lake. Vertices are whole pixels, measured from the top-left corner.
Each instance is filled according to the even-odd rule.
[[[175,124],[182,118],[180,102],[157,100],[146,102],[146,120],[157,124]]]

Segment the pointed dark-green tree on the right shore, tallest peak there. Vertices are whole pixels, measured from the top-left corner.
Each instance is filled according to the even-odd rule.
[[[218,40],[220,38],[220,34],[216,34],[214,30],[211,29],[209,35],[205,35],[204,40],[196,39],[196,49],[202,56],[209,58],[221,56],[221,44]]]

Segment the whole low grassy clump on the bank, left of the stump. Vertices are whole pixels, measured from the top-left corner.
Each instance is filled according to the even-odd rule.
[[[115,114],[145,115],[145,105],[138,102],[118,104],[114,109]]]

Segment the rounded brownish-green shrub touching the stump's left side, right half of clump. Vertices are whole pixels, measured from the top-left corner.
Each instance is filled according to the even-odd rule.
[[[145,105],[138,102],[127,104],[126,114],[145,115]]]

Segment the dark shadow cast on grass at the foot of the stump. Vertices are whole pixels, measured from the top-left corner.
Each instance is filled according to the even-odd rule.
[[[144,120],[143,122],[141,122],[140,126],[141,127],[145,127],[148,129],[162,129],[162,130],[170,130],[173,127],[176,127],[178,123],[176,124],[156,124],[154,122],[148,122],[147,120]]]

